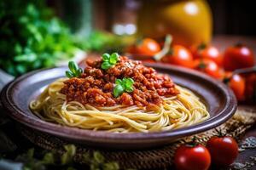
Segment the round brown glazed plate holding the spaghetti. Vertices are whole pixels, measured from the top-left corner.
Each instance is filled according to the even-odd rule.
[[[158,133],[107,133],[44,122],[32,114],[29,103],[56,78],[64,77],[66,67],[32,71],[15,79],[1,93],[3,107],[16,122],[34,130],[66,139],[73,143],[106,149],[139,150],[170,144],[174,140],[201,133],[226,122],[236,111],[236,98],[222,82],[198,71],[174,65],[147,64],[169,74],[174,82],[189,88],[201,97],[211,117],[200,124]]]

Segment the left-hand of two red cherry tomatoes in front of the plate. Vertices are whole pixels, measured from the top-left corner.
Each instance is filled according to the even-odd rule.
[[[211,165],[211,156],[206,147],[182,145],[174,155],[177,170],[207,170]]]

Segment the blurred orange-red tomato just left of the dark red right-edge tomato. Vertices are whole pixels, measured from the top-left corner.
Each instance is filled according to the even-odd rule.
[[[190,48],[195,59],[211,59],[217,65],[222,65],[223,57],[218,48],[212,45],[201,44]]]

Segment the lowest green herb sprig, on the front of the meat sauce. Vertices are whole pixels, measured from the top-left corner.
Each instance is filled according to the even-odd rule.
[[[123,78],[115,80],[115,87],[113,88],[113,96],[115,98],[119,97],[119,95],[124,92],[131,93],[133,91],[132,85],[134,81],[132,78]]]

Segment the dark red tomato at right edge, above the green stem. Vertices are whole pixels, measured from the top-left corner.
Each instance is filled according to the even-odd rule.
[[[254,65],[253,51],[241,44],[227,48],[224,52],[223,64],[226,71],[251,67]]]

